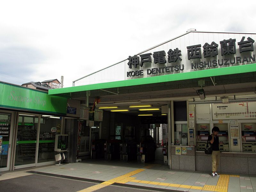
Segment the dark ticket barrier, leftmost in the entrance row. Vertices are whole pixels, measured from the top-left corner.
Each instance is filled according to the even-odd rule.
[[[104,158],[104,144],[105,139],[92,140],[91,159]]]

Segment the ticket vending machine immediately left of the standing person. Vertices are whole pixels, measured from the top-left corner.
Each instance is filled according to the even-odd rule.
[[[210,132],[210,124],[196,124],[196,133],[196,149],[198,151],[204,151],[208,136],[212,133],[212,131]]]

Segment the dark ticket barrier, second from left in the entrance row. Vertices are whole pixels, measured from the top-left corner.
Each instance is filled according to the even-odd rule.
[[[120,158],[120,143],[121,140],[108,140],[107,141],[107,153],[105,156],[106,160],[113,160]]]

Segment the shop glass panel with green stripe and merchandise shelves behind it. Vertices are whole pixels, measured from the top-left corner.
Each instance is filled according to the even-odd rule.
[[[37,124],[34,118],[24,116],[24,122],[18,123],[15,166],[35,163]]]

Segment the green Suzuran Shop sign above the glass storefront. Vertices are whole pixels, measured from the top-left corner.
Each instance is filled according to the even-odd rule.
[[[0,107],[66,115],[67,98],[0,82]]]

